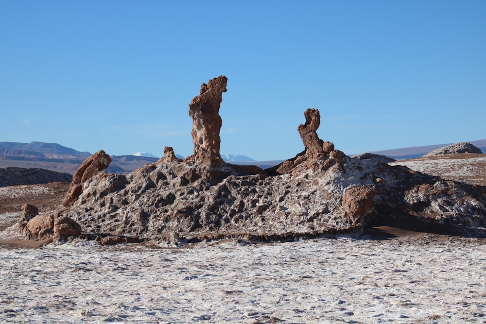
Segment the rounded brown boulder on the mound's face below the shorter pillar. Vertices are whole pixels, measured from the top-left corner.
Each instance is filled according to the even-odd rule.
[[[373,198],[376,191],[368,187],[353,187],[343,195],[346,216],[355,225],[363,225],[364,218],[373,211]]]

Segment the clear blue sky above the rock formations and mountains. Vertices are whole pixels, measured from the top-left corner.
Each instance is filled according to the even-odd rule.
[[[228,77],[221,153],[347,154],[486,138],[486,1],[0,1],[0,141],[192,153]]]

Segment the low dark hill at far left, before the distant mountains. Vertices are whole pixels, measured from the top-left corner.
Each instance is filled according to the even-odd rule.
[[[0,187],[71,182],[72,175],[39,168],[0,168]]]

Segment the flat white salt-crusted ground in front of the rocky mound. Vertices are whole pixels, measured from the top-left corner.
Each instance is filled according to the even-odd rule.
[[[486,323],[485,243],[0,246],[0,322]]]

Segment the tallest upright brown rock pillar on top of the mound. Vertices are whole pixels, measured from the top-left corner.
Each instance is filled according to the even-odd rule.
[[[219,152],[221,145],[219,132],[222,125],[219,107],[223,101],[223,92],[226,92],[227,81],[228,79],[221,75],[209,80],[207,85],[203,83],[200,95],[194,97],[189,104],[194,153],[186,157],[185,161],[210,166],[225,164]]]

